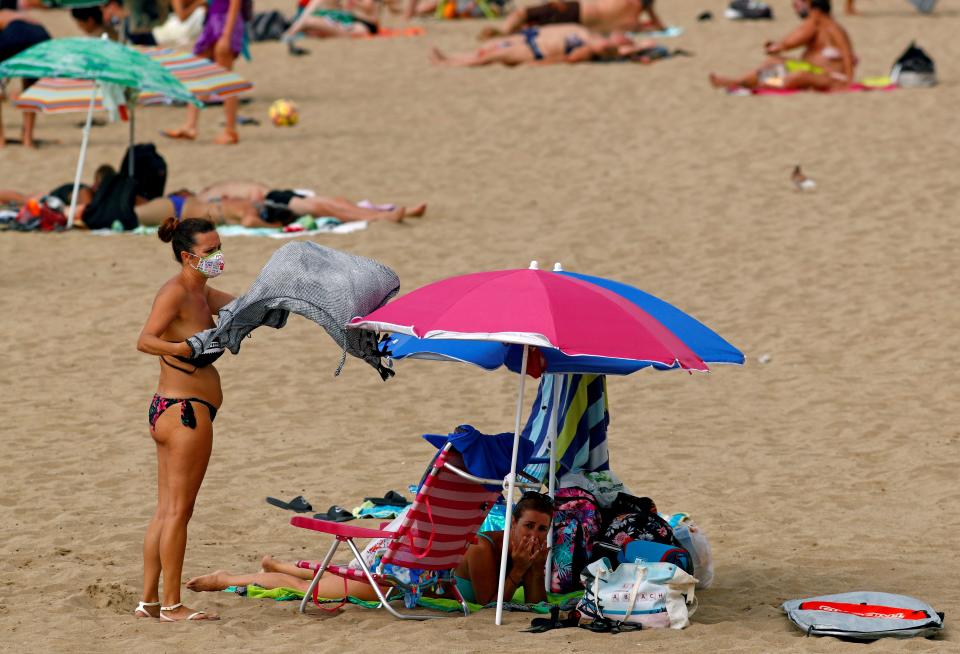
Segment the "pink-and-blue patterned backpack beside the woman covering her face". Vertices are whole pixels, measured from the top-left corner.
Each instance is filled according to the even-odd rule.
[[[600,504],[582,488],[561,488],[554,498],[550,589],[570,593],[580,589],[580,572],[593,556],[600,533]]]

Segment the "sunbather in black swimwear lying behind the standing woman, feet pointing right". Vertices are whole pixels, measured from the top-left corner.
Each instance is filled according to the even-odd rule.
[[[257,182],[219,182],[212,184],[197,194],[202,200],[213,201],[220,198],[248,200],[253,203],[269,202],[288,208],[299,216],[328,216],[343,222],[356,220],[389,220],[400,222],[406,217],[419,218],[427,211],[426,203],[414,207],[402,207],[393,204],[373,205],[369,202],[356,204],[341,197],[316,195],[313,191],[271,190],[266,184]]]

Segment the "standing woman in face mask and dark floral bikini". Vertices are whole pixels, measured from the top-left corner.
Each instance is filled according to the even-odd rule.
[[[157,510],[143,540],[143,597],[137,617],[166,621],[216,616],[180,603],[187,523],[213,447],[213,420],[223,401],[220,354],[196,356],[185,339],[214,326],[213,316],[233,299],[207,280],[223,271],[220,236],[202,219],[168,218],[159,229],[180,271],[157,293],[137,349],[159,357],[160,380],[150,403],[150,435],[157,445]],[[163,601],[159,583],[163,574]]]

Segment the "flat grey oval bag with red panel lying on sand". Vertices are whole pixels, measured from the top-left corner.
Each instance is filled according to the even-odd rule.
[[[783,610],[808,636],[857,640],[933,636],[943,630],[943,613],[907,595],[854,592],[788,600]]]

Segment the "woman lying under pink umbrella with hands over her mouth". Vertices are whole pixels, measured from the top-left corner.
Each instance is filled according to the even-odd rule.
[[[513,510],[510,528],[510,559],[506,576],[504,597],[513,597],[523,588],[524,600],[531,604],[546,599],[544,589],[544,564],[547,559],[547,532],[553,520],[553,500],[540,493],[524,493]],[[500,552],[503,547],[503,532],[491,531],[477,534],[477,542],[471,545],[457,567],[457,589],[463,598],[475,604],[489,604],[497,599]],[[293,563],[281,563],[265,556],[261,561],[262,572],[233,574],[225,570],[194,577],[187,581],[193,591],[220,591],[228,586],[256,585],[261,588],[293,588],[307,592],[313,572],[298,568]],[[386,588],[382,589],[386,592]],[[342,597],[344,592],[357,599],[376,601],[373,588],[365,583],[324,575],[317,586],[317,596]]]

